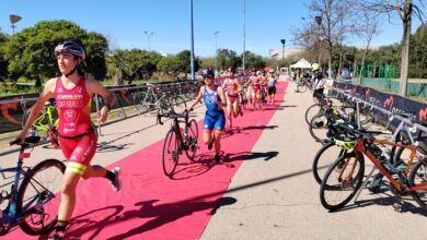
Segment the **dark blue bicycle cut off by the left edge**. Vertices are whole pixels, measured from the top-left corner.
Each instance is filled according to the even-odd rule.
[[[33,168],[23,167],[23,159],[30,157],[25,149],[34,147],[39,141],[39,136],[28,136],[23,144],[19,140],[10,143],[20,145],[21,149],[16,167],[0,169],[3,178],[4,172],[15,172],[12,182],[1,185],[0,236],[8,233],[15,226],[20,226],[27,235],[44,235],[57,223],[60,201],[56,192],[60,187],[56,184],[61,182],[65,164],[57,159],[46,159]],[[10,192],[4,190],[9,184]]]

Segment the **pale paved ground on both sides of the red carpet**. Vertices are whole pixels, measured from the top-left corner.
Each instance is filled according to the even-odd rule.
[[[426,239],[427,211],[409,197],[402,212],[394,211],[390,192],[363,191],[358,205],[351,202],[336,213],[322,207],[319,184],[311,173],[320,145],[303,120],[311,104],[310,93],[295,93],[295,85],[289,84],[270,128],[264,130],[235,173],[222,200],[224,206],[216,211],[201,239]],[[197,109],[197,118],[201,111],[201,107]],[[109,165],[162,139],[166,127],[154,122],[154,117],[142,116],[104,127],[103,147],[93,163]],[[1,157],[0,166],[13,163],[14,156]],[[58,149],[33,151],[32,159],[46,157],[62,158]]]

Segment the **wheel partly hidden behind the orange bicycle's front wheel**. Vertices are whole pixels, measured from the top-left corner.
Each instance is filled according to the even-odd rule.
[[[319,152],[315,154],[313,158],[313,176],[315,181],[321,184],[322,179],[325,176],[327,169],[334,161],[346,154],[346,151],[341,149],[335,145],[333,141],[327,142]]]

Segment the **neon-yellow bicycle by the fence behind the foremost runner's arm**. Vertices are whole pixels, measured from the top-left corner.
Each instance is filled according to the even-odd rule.
[[[22,117],[22,128],[24,128],[28,116],[33,108],[27,109]],[[50,139],[50,144],[57,148],[58,142],[58,110],[55,105],[55,98],[50,98],[46,101],[41,115],[36,118],[31,127],[31,134],[38,135],[43,141]]]

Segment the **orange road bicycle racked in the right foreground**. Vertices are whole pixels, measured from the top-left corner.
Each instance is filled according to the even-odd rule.
[[[427,191],[427,158],[418,158],[419,161],[413,165],[417,146],[377,140],[367,131],[349,130],[349,132],[356,135],[355,140],[348,141],[354,146],[353,152],[338,157],[322,180],[320,199],[323,207],[337,211],[343,208],[356,195],[362,187],[365,177],[363,156],[367,156],[389,180],[390,188],[397,197],[411,193],[422,207],[427,208],[427,200],[424,199]],[[408,148],[412,154],[406,164],[392,165],[391,159],[383,156],[378,144]]]

